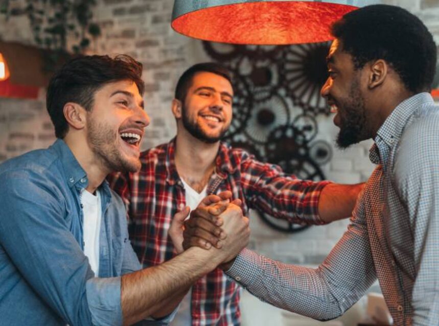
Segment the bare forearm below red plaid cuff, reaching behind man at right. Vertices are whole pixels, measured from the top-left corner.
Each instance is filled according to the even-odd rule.
[[[320,219],[329,223],[352,216],[358,194],[364,185],[364,183],[355,185],[330,183],[326,185],[318,200]]]

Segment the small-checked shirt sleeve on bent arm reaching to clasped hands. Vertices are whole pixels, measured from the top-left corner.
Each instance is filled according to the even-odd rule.
[[[226,273],[276,307],[319,320],[342,315],[376,280],[361,205],[318,268],[283,264],[244,249]]]

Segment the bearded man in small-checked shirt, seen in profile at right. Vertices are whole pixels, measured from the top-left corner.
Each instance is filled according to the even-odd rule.
[[[351,224],[316,269],[247,249],[222,267],[261,299],[320,320],[343,314],[378,279],[395,325],[439,325],[436,44],[418,17],[387,5],[344,15],[332,33],[321,93],[337,111],[337,143],[375,141],[377,167]]]

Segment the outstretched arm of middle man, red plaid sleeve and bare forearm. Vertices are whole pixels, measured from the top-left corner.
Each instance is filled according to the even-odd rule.
[[[364,184],[300,180],[277,165],[243,157],[241,187],[250,208],[291,222],[324,224],[350,217]]]

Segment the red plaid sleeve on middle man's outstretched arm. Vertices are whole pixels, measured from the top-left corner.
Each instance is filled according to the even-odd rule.
[[[318,199],[328,181],[300,180],[250,156],[243,158],[241,180],[250,208],[294,223],[325,223],[318,215]]]

